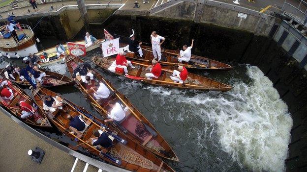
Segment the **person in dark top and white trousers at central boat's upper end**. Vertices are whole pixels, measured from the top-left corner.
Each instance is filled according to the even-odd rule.
[[[80,75],[82,82],[84,83],[88,83],[88,81],[86,80],[86,76],[90,76],[91,79],[94,78],[94,75],[91,72],[91,65],[87,62],[84,63],[78,63],[78,67],[74,70],[73,74],[72,74],[72,78],[73,80],[76,80],[76,75]]]

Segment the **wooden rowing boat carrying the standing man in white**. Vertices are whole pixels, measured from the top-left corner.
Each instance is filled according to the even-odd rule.
[[[127,44],[121,44],[121,47],[126,47]],[[128,48],[124,48],[128,49]],[[127,53],[127,58],[132,60],[138,61],[149,61],[151,62],[153,57],[152,47],[142,46],[144,57],[140,58],[137,54],[133,52]],[[150,55],[147,55],[150,53]],[[198,55],[191,55],[191,60],[189,62],[183,62],[183,64],[179,64],[177,56],[179,55],[180,50],[171,50],[171,49],[162,49],[162,60],[160,64],[163,66],[178,66],[182,65],[187,70],[206,70],[206,71],[228,71],[234,66],[230,66],[228,64],[212,60],[210,58],[198,56]]]

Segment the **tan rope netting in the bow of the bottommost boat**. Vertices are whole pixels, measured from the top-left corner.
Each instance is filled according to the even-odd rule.
[[[141,158],[140,155],[137,155],[129,148],[124,147],[122,144],[117,144],[109,151],[109,153],[111,156],[121,158],[130,164],[135,164],[149,170],[157,170],[152,161],[146,158]]]

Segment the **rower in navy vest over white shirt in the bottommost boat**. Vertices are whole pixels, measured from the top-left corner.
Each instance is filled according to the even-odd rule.
[[[55,112],[57,109],[63,110],[64,112],[68,112],[63,109],[63,102],[61,102],[60,97],[57,96],[53,98],[51,96],[46,95],[44,98],[45,100],[43,103],[43,109],[48,110],[49,112]]]

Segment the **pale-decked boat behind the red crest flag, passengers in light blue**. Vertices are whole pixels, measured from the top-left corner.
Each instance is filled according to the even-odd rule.
[[[88,51],[91,51],[93,49],[98,48],[100,43],[104,42],[104,41],[105,41],[104,39],[98,39],[98,41],[95,44],[93,44],[90,47],[87,47],[86,51],[88,52]],[[72,43],[85,45],[84,40],[83,41],[76,41],[76,42],[72,42]],[[64,46],[65,49],[67,49],[67,44],[63,44],[63,46]],[[66,50],[66,51],[67,51],[67,54],[69,54],[68,50]],[[52,48],[49,48],[49,49],[44,49],[42,51],[39,51],[39,52],[35,53],[34,55],[37,55],[37,56],[40,57],[40,55],[46,53],[47,58],[41,59],[41,63],[39,63],[39,65],[40,66],[47,66],[47,65],[57,63],[57,62],[60,62],[60,61],[63,60],[64,56],[61,55],[61,57],[58,58],[56,52],[57,52],[56,47],[52,47]]]

